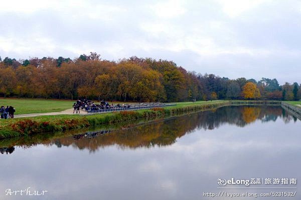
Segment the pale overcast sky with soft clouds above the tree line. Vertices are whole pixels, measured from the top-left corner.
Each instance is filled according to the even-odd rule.
[[[0,56],[97,52],[229,78],[301,83],[301,1],[0,0]]]

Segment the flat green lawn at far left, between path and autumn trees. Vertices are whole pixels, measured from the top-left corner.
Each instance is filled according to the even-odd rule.
[[[13,99],[1,98],[0,106],[13,106],[15,114],[60,112],[72,108],[70,100],[44,100],[44,99]]]

